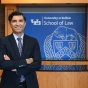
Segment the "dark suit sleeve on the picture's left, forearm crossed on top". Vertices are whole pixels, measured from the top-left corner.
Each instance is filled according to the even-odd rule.
[[[20,60],[20,59],[16,59],[16,60],[4,60],[4,54],[7,55],[7,51],[5,49],[5,45],[2,41],[2,39],[0,39],[0,69],[3,70],[12,70],[12,69],[16,69],[19,68],[19,66],[26,66],[26,60]]]

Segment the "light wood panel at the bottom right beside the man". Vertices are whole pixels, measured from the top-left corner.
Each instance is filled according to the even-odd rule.
[[[37,72],[39,88],[88,88],[88,72]]]

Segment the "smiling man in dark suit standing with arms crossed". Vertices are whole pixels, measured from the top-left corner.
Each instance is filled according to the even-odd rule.
[[[0,88],[39,88],[36,71],[41,67],[38,41],[24,34],[26,18],[18,11],[8,17],[13,33],[0,39]],[[29,25],[30,26],[30,25]]]

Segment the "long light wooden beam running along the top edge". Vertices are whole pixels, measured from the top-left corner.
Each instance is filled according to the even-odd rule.
[[[88,0],[1,0],[2,4],[88,3]]]

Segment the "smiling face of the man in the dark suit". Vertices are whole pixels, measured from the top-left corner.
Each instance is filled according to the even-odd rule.
[[[24,27],[26,25],[23,16],[13,16],[10,22],[13,33],[23,33]]]

